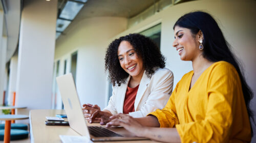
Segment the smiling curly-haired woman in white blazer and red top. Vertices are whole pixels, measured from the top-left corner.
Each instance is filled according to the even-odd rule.
[[[159,47],[140,34],[114,40],[106,50],[105,71],[113,84],[109,105],[84,104],[84,117],[105,124],[116,113],[145,117],[162,109],[173,90],[173,73],[164,68],[165,58]]]

